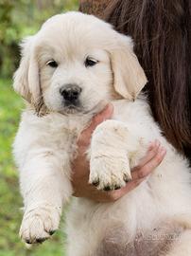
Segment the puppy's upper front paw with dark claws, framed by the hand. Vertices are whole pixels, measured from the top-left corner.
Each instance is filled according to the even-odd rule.
[[[90,159],[89,183],[98,190],[118,190],[131,180],[128,157],[99,155]]]

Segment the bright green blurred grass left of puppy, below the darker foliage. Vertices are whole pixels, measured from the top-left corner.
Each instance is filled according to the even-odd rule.
[[[43,245],[26,248],[19,238],[22,198],[18,174],[11,155],[11,144],[24,108],[10,80],[0,80],[0,256],[63,255],[61,231]]]

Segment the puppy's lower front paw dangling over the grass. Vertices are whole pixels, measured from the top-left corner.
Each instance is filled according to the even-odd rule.
[[[26,210],[20,229],[20,237],[27,244],[43,243],[59,228],[61,209],[40,206]]]

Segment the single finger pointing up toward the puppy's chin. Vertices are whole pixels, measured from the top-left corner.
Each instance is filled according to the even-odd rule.
[[[78,144],[84,147],[90,144],[92,133],[96,129],[96,126],[106,119],[111,119],[113,115],[113,104],[108,104],[100,113],[98,113],[93,119],[91,124],[82,131],[78,138]]]

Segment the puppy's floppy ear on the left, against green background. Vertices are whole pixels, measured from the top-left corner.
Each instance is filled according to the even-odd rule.
[[[39,67],[34,54],[34,36],[26,38],[22,46],[22,59],[14,73],[13,87],[26,101],[36,106],[41,100]]]

